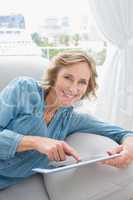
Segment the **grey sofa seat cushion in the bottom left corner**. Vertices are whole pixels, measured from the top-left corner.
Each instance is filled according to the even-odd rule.
[[[48,200],[41,175],[34,175],[0,191],[0,200]]]

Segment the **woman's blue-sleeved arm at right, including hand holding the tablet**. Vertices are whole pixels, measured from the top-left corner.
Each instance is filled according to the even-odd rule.
[[[94,133],[107,136],[121,144],[109,149],[108,154],[122,153],[122,156],[102,163],[115,167],[125,167],[133,161],[133,131],[126,131],[114,124],[98,121],[88,114],[73,113],[70,122],[69,134],[75,132]]]

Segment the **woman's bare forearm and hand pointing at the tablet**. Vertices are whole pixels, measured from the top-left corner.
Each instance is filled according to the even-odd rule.
[[[48,156],[49,160],[65,160],[66,155],[73,156],[77,161],[80,160],[78,153],[66,142],[47,137],[24,136],[17,146],[16,151],[37,150]]]

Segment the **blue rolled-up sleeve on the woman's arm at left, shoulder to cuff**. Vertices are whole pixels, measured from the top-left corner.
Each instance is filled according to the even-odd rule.
[[[30,95],[36,92],[36,83],[30,77],[12,80],[0,92],[0,159],[14,157],[23,134],[7,129],[21,112],[31,109]]]

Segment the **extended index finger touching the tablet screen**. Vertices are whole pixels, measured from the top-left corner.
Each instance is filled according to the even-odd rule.
[[[63,143],[63,148],[64,148],[64,151],[67,155],[69,156],[73,156],[73,158],[77,161],[80,161],[81,158],[80,156],[78,155],[78,153],[76,152],[75,149],[73,149],[72,147],[70,147],[67,143]]]

